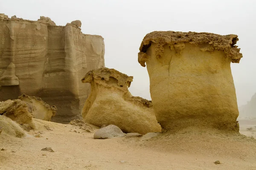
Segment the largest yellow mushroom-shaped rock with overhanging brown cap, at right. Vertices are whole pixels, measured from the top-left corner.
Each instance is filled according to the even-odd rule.
[[[213,127],[239,130],[230,62],[242,54],[237,35],[154,31],[140,46],[147,65],[157,121],[165,129]]]

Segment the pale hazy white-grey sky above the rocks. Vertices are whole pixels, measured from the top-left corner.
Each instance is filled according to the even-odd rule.
[[[137,62],[151,31],[237,34],[243,58],[232,63],[238,105],[256,93],[256,3],[254,0],[0,0],[0,13],[27,20],[50,17],[65,26],[81,20],[84,34],[105,40],[105,66],[134,76],[129,90],[150,99],[147,69]]]

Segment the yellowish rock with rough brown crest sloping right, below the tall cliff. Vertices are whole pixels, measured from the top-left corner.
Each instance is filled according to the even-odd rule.
[[[30,97],[26,94],[23,94],[18,98],[32,105],[34,110],[33,115],[35,116],[35,119],[51,121],[51,118],[55,116],[57,108],[55,106],[48,105],[40,97]]]

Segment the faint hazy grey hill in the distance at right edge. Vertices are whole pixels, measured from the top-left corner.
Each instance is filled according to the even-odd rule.
[[[239,118],[256,118],[256,94],[252,96],[250,102],[239,107]]]

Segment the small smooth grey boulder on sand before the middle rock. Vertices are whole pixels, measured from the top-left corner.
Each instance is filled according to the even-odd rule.
[[[125,136],[125,133],[115,125],[108,125],[102,127],[94,133],[94,139],[111,139],[113,137],[122,137]]]

